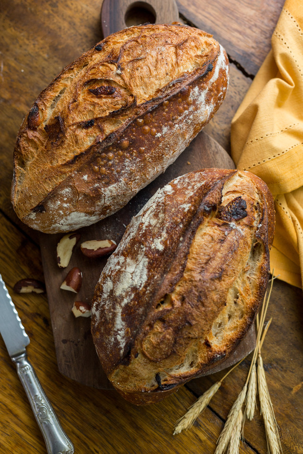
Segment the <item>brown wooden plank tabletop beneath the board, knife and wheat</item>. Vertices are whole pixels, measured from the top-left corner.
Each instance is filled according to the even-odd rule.
[[[191,430],[172,435],[176,420],[221,373],[191,381],[159,404],[135,407],[116,391],[80,385],[57,368],[47,299],[13,293],[24,277],[43,279],[37,234],[16,217],[10,203],[15,137],[39,92],[68,63],[102,37],[102,2],[2,0],[0,101],[0,272],[30,336],[28,356],[78,454],[213,453],[227,414],[246,378],[245,360],[215,395]],[[165,2],[163,2],[165,3]],[[214,34],[230,58],[230,86],[217,116],[205,128],[227,151],[231,119],[270,49],[283,0],[180,0],[180,19]],[[303,452],[303,305],[301,290],[275,280],[264,344],[268,385],[284,453]],[[1,314],[0,314],[1,316]],[[46,452],[25,392],[0,338],[0,452]],[[240,452],[267,452],[260,408],[246,422]]]

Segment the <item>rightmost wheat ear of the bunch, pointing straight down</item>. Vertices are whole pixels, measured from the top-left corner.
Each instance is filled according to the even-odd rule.
[[[271,454],[280,454],[283,451],[279,437],[278,424],[269,395],[261,353],[259,353],[258,357],[258,388],[261,414],[263,414],[265,425],[268,452],[270,452]]]

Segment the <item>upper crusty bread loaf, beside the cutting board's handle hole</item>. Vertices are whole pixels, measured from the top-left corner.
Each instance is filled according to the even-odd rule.
[[[123,207],[222,103],[228,59],[211,35],[143,25],[108,36],[38,96],[18,133],[12,202],[57,233]]]

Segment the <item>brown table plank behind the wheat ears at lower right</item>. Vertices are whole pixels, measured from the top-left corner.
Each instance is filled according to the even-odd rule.
[[[299,386],[303,379],[302,291],[276,279],[267,319],[270,317],[273,321],[262,352],[266,378],[280,427],[283,452],[299,454],[303,446],[303,387]],[[211,401],[210,407],[224,419],[245,382],[248,367],[249,362],[245,360],[227,377]],[[222,372],[196,379],[187,386],[200,395],[221,376]],[[255,419],[246,422],[244,435],[252,447],[267,452],[260,406]]]

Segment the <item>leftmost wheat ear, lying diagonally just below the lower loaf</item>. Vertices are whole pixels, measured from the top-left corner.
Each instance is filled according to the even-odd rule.
[[[192,426],[199,414],[202,413],[209,405],[213,395],[216,394],[220,388],[221,383],[222,381],[217,381],[213,384],[213,386],[211,386],[193,405],[191,405],[191,407],[188,408],[185,415],[176,422],[173,435],[182,432],[184,429],[187,430]]]

